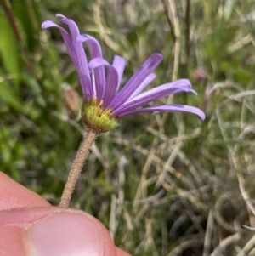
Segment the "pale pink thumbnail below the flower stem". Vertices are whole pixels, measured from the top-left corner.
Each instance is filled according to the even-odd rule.
[[[25,231],[26,255],[102,255],[99,224],[83,213],[59,212],[39,219]]]

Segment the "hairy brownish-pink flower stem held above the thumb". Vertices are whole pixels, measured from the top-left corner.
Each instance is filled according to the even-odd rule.
[[[65,189],[63,191],[59,203],[60,207],[68,207],[69,202],[71,200],[71,194],[75,189],[77,179],[82,171],[82,166],[85,160],[87,159],[88,152],[97,136],[98,134],[94,133],[94,131],[88,130],[88,133],[82,140],[82,144],[80,145],[79,150],[77,151],[77,156],[74,162],[72,163],[71,171],[65,183]]]

